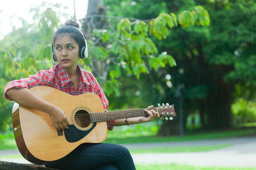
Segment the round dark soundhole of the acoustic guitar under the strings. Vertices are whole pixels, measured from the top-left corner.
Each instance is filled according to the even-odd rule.
[[[76,124],[80,127],[88,127],[90,125],[90,115],[85,110],[79,110],[75,115]]]

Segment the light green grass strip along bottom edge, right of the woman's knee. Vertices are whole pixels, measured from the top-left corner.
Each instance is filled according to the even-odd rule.
[[[198,166],[188,166],[179,164],[136,164],[137,170],[255,170],[256,168],[251,167],[198,167]]]

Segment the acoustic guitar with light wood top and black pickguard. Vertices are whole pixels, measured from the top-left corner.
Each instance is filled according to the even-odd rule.
[[[68,129],[57,131],[47,113],[16,104],[13,106],[15,141],[23,157],[34,164],[61,159],[82,143],[103,142],[108,134],[106,121],[148,117],[144,109],[104,112],[99,96],[93,93],[71,96],[45,86],[30,90],[41,99],[60,107],[70,121]],[[153,109],[164,119],[175,117],[173,105]]]

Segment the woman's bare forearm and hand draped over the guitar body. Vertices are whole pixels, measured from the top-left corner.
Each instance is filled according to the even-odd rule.
[[[69,123],[65,112],[61,110],[61,108],[58,108],[51,103],[47,103],[43,99],[35,96],[32,92],[30,92],[30,90],[26,88],[9,89],[6,92],[6,95],[22,106],[48,113],[56,129],[60,130],[68,128],[67,125],[69,125]]]

